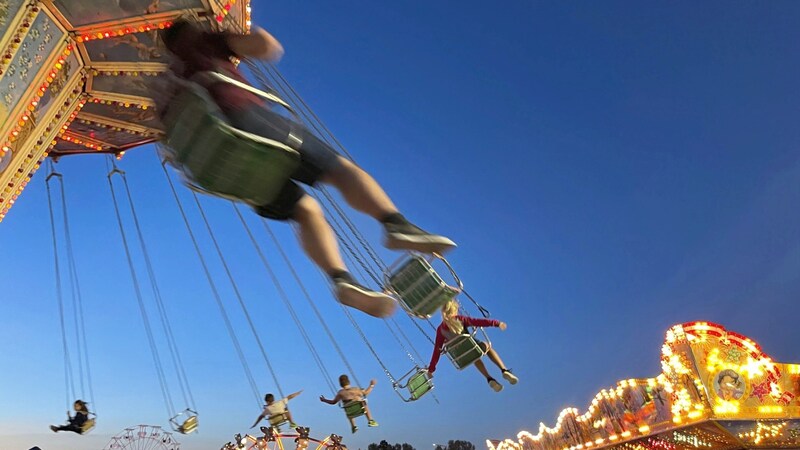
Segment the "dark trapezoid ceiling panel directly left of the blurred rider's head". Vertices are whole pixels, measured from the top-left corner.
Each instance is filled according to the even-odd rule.
[[[91,62],[170,62],[154,31],[89,41],[84,45]]]

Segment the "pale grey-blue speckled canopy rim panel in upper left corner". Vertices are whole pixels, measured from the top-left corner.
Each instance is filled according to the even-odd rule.
[[[0,117],[10,114],[36,76],[44,61],[64,39],[62,32],[44,12],[36,16],[19,51],[0,79]]]

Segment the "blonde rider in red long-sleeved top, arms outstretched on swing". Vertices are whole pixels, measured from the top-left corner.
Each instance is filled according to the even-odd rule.
[[[505,331],[508,325],[506,325],[505,322],[495,319],[461,316],[458,314],[458,302],[450,300],[442,306],[442,323],[436,328],[436,342],[433,344],[433,355],[431,355],[431,363],[428,365],[428,373],[430,376],[433,376],[433,372],[436,371],[436,364],[439,363],[439,357],[447,342],[460,334],[469,334],[467,327],[497,327]],[[478,341],[478,345],[483,348],[484,353],[489,355],[489,359],[500,369],[503,373],[503,378],[511,384],[517,384],[519,378],[511,373],[510,369],[506,368],[503,360],[500,359],[500,355],[497,354],[491,345],[481,341]],[[489,382],[489,386],[494,389],[495,392],[503,390],[503,385],[489,375],[489,371],[486,370],[486,365],[482,360],[479,359],[475,361],[474,365],[475,368],[478,369],[478,372],[486,377],[486,381]]]

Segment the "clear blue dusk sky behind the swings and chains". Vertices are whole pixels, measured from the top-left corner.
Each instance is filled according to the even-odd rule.
[[[313,435],[343,434],[354,449],[382,439],[419,450],[448,439],[483,447],[552,425],[564,407],[583,410],[619,379],[657,375],[664,332],[685,321],[721,323],[777,361],[800,362],[800,3],[353,0],[253,9],[286,48],[281,71],[359,164],[409,218],[459,243],[451,262],[508,322],[488,332],[521,380],[494,393],[475,369],[442,361],[438,402],[403,403],[291,229],[274,224],[359,379],[378,380],[370,406],[380,427],[364,423],[351,435],[343,413],[317,400],[331,392],[238,218],[205,197],[283,390],[304,389],[292,409]],[[180,436],[182,448],[217,449],[247,430],[258,404],[154,149],[129,151],[120,166],[200,411],[200,432]],[[106,160],[70,157],[57,168],[99,425],[86,437],[47,429],[64,420],[67,398],[42,169],[0,225],[4,450],[99,450],[126,426],[167,426]],[[180,194],[258,390],[275,392],[189,191]],[[246,217],[325,366],[343,372],[269,236]],[[379,246],[379,227],[356,223]],[[138,253],[135,263],[152,308]],[[380,321],[358,320],[392,373],[413,366]],[[408,318],[397,323],[426,363],[427,338]]]

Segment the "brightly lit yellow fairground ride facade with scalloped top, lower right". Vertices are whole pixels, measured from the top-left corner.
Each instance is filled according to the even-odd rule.
[[[800,447],[800,364],[776,363],[721,325],[667,331],[663,371],[623,380],[553,428],[487,441],[490,450],[683,450]]]

